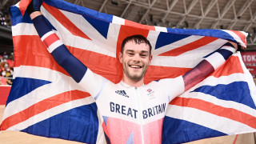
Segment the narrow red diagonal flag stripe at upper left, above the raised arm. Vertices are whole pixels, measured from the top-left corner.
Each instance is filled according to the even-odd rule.
[[[46,8],[46,10],[54,16],[62,24],[62,26],[65,26],[67,30],[70,31],[70,33],[91,40],[86,34],[82,32],[82,30],[78,29],[77,26],[74,25],[73,22],[70,21],[69,18],[66,18],[64,14],[58,9],[56,9],[53,6],[46,5],[45,3],[42,3],[42,6]]]

